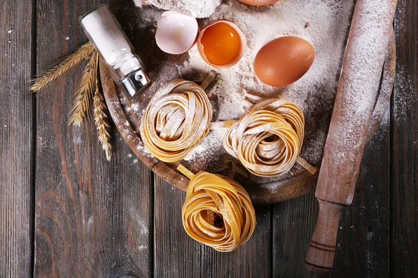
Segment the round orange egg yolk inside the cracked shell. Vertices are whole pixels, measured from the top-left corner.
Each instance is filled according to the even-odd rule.
[[[237,56],[240,50],[240,37],[228,24],[217,23],[206,28],[201,44],[209,63],[224,65]]]

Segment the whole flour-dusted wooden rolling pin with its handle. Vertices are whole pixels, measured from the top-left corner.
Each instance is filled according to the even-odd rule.
[[[307,270],[329,272],[344,208],[351,204],[373,105],[380,83],[397,0],[357,0],[316,198],[319,214]]]

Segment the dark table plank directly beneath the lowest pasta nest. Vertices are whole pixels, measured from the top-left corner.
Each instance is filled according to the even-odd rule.
[[[183,229],[185,193],[155,178],[155,277],[270,277],[270,206],[256,207],[254,235],[231,253],[196,242]]]

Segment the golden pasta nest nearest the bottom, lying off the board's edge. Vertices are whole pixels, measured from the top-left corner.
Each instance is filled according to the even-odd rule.
[[[182,217],[189,236],[220,252],[237,249],[256,228],[254,206],[240,183],[208,172],[190,180]]]

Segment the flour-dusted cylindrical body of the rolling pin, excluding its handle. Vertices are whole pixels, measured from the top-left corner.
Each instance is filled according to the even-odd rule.
[[[391,32],[391,26],[383,27],[381,24],[387,18],[393,17],[393,6],[387,2],[389,1],[362,1],[361,5],[356,6],[355,13],[359,15],[359,20],[353,20],[351,26],[325,147],[323,167],[327,168],[328,174],[320,175],[318,186],[328,184],[341,190],[341,186],[357,180],[364,138],[376,101]],[[384,30],[376,31],[382,28]],[[353,33],[356,35],[351,35]],[[353,163],[345,163],[346,161]],[[330,176],[333,177],[332,180],[323,180]],[[345,178],[340,180],[340,177]],[[350,204],[354,187],[347,189],[348,195],[334,195],[333,202]],[[327,194],[328,190],[317,190],[317,197],[325,199],[323,194]],[[327,194],[327,197],[330,195]]]

